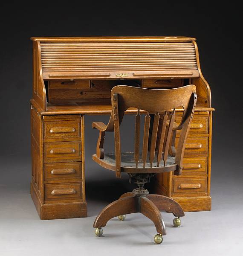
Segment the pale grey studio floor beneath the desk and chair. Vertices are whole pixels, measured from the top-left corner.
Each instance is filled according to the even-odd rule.
[[[104,236],[94,235],[95,216],[119,194],[129,191],[127,179],[89,177],[88,218],[40,221],[26,179],[30,168],[29,160],[11,163],[1,158],[1,256],[243,255],[242,175],[232,177],[225,172],[213,176],[212,210],[186,212],[179,228],[172,226],[172,214],[162,212],[167,235],[159,245],[153,242],[153,223],[140,213],[127,215],[123,222],[113,218],[104,227]]]

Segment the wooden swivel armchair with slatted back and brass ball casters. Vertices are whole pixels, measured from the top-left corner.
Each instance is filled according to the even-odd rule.
[[[122,195],[118,200],[102,209],[94,222],[95,234],[101,236],[102,227],[111,218],[118,216],[124,220],[125,214],[141,212],[153,221],[158,234],[154,237],[157,244],[162,242],[162,235],[166,235],[165,224],[159,210],[172,212],[176,218],[174,226],[181,223],[184,216],[182,207],[173,199],[163,195],[149,195],[144,189],[150,177],[156,173],[182,172],[182,159],[189,125],[197,101],[194,85],[187,85],[175,89],[145,89],[119,85],[111,90],[112,113],[107,125],[103,122],[93,122],[92,127],[99,130],[96,154],[93,160],[106,169],[121,177],[121,172],[129,175],[130,182],[138,185],[133,192]],[[121,137],[119,126],[122,123],[124,111],[127,108],[137,108],[135,116],[135,146],[134,152],[121,152]],[[175,109],[184,108],[181,123],[174,122]],[[142,153],[139,152],[140,119],[145,113],[145,125],[142,143]],[[176,130],[181,130],[179,142],[175,149]],[[115,154],[104,153],[105,132],[114,132]]]

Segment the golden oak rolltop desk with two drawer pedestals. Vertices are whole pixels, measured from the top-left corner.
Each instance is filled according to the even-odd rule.
[[[31,39],[31,196],[41,219],[87,216],[84,116],[110,114],[110,91],[119,84],[144,88],[196,85],[197,106],[185,146],[182,175],[157,175],[156,191],[175,199],[185,211],[211,209],[214,109],[210,87],[200,70],[195,38]],[[134,111],[130,108],[127,113]],[[176,109],[178,123],[182,111]]]

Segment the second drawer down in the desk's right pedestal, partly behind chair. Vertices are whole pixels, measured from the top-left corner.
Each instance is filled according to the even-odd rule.
[[[176,138],[176,148],[179,137]],[[188,137],[185,144],[184,156],[208,156],[208,137]]]

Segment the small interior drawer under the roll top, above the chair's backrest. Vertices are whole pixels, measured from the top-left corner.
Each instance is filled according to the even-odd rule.
[[[144,79],[142,87],[157,88],[157,87],[181,87],[182,79]]]

